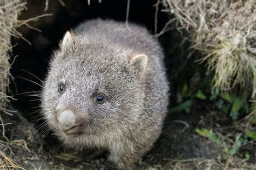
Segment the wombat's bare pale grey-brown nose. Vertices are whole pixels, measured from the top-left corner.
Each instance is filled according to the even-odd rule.
[[[77,126],[75,121],[75,114],[72,110],[57,112],[57,119],[65,131],[68,131]]]

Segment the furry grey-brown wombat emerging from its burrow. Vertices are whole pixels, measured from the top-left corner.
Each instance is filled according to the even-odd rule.
[[[158,138],[169,83],[158,41],[142,26],[83,22],[52,55],[43,115],[65,146],[110,152],[105,168],[132,169]]]

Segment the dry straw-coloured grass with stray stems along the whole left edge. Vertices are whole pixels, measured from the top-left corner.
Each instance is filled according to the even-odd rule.
[[[8,138],[5,136],[4,126],[11,123],[4,123],[2,119],[2,113],[13,115],[12,112],[14,112],[7,109],[7,104],[10,100],[15,100],[15,98],[7,95],[10,81],[13,79],[10,74],[10,69],[14,62],[10,59],[12,50],[11,37],[22,38],[30,44],[30,42],[23,37],[22,33],[18,32],[16,29],[22,25],[26,25],[31,29],[39,31],[31,27],[28,23],[36,21],[41,17],[49,16],[49,14],[45,14],[27,20],[18,20],[18,15],[22,10],[26,9],[25,5],[26,2],[24,0],[0,1],[0,126],[2,128],[3,138],[7,141],[5,142],[0,139],[0,169],[22,168],[12,160],[14,153],[10,146],[30,152],[25,140],[8,141]],[[10,151],[10,155],[6,154],[8,151]]]

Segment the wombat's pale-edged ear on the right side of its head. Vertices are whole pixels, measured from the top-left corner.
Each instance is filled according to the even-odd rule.
[[[138,54],[130,57],[130,63],[136,66],[143,73],[147,67],[147,55],[146,54]]]

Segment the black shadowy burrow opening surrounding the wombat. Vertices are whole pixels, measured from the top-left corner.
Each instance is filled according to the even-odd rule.
[[[52,51],[58,48],[58,42],[63,38],[65,32],[72,29],[80,22],[92,18],[111,18],[123,22],[125,21],[127,8],[126,1],[103,0],[102,3],[98,3],[98,1],[91,1],[90,6],[87,5],[87,1],[75,0],[63,2],[65,3],[65,7],[62,6],[59,1],[50,1],[49,9],[44,12],[45,1],[29,0],[27,5],[28,10],[23,11],[19,19],[28,19],[30,17],[42,15],[43,13],[52,13],[52,16],[43,17],[37,22],[30,23],[31,26],[36,27],[42,32],[29,29],[26,26],[22,26],[18,30],[23,34],[25,39],[31,42],[31,45],[29,45],[28,42],[23,39],[12,38],[12,44],[15,45],[12,51],[12,60],[14,60],[14,56],[17,55],[18,57],[15,59],[11,69],[11,74],[15,78],[15,83],[11,83],[10,91],[10,93],[15,94],[15,98],[17,98],[17,100],[12,101],[11,104],[15,109],[21,111],[23,116],[26,117],[30,122],[33,122],[33,117],[38,115],[37,110],[39,109],[39,101],[30,101],[37,98],[28,97],[23,93],[28,91],[37,92],[40,91],[41,88],[35,83],[21,80],[18,77],[25,77],[25,79],[41,83],[36,77],[31,76],[29,73],[37,76],[41,80],[44,80]],[[155,3],[156,1],[149,0],[131,1],[129,22],[143,25],[147,27],[147,29],[153,34],[156,12],[156,9],[154,8]],[[166,12],[158,13],[158,32],[163,29],[165,23],[169,20],[169,17],[170,16],[168,16]],[[183,80],[189,80],[190,77],[192,77],[194,62],[192,59],[189,59],[186,62],[190,62],[192,64],[186,69],[180,69],[183,62],[185,62],[183,56],[188,55],[191,51],[188,49],[190,44],[189,42],[185,42],[180,45],[181,42],[183,42],[183,35],[181,35],[180,32],[176,30],[167,32],[159,38],[159,41],[163,46],[166,55],[165,64],[167,67],[167,75],[169,76],[169,81],[171,82],[172,95],[170,97],[170,105],[172,106],[176,104],[175,98],[172,96],[175,96],[174,94],[179,84],[181,84]],[[26,73],[22,69],[29,73]],[[177,73],[177,70],[179,73]],[[190,70],[190,72],[188,72],[188,70]],[[186,115],[183,116],[185,117]],[[199,116],[200,115],[198,115],[197,118]],[[167,116],[165,124],[170,124],[172,119],[173,117],[171,118],[170,115]],[[42,121],[38,121],[35,123],[35,126],[38,126],[41,123]],[[172,128],[173,127],[174,126],[172,126]],[[179,129],[179,127],[177,129]],[[173,131],[176,130],[174,129]],[[167,137],[165,136],[166,133],[171,132],[170,128],[166,128],[165,126],[161,138],[155,145],[160,145],[160,141],[165,143],[165,140],[167,140]],[[50,135],[48,135],[45,140],[51,146],[58,145],[57,140],[53,139]],[[179,140],[177,142],[179,142]],[[171,141],[169,141],[169,143],[171,143]],[[161,151],[159,152],[166,150],[166,148],[162,149],[161,147],[165,146],[160,146],[159,150]],[[168,148],[168,150],[169,149],[170,148]],[[157,149],[153,148],[153,150]],[[166,151],[165,156],[170,157],[169,151]]]

